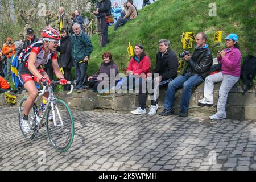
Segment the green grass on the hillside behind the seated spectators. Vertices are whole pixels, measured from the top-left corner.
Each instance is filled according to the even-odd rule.
[[[127,22],[125,26],[113,31],[109,27],[109,44],[105,48],[98,46],[98,35],[92,37],[93,52],[88,64],[88,75],[97,71],[102,63],[101,55],[106,51],[113,54],[119,72],[125,72],[129,56],[128,42],[134,46],[140,43],[151,60],[151,70],[155,67],[155,55],[158,52],[158,41],[167,38],[171,49],[178,55],[181,47],[182,32],[203,31],[207,34],[207,43],[214,57],[217,51],[225,48],[224,38],[234,32],[239,36],[240,49],[243,58],[249,53],[255,55],[255,6],[254,0],[216,0],[217,16],[208,15],[209,3],[212,1],[196,0],[159,0],[139,10],[138,18]],[[222,47],[214,46],[213,35],[222,31]],[[188,50],[193,52],[193,49]]]

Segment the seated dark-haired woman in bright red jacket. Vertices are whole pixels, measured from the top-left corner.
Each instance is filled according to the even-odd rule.
[[[126,77],[123,78],[122,84],[117,84],[117,89],[122,88],[123,91],[136,89],[139,87],[140,82],[146,81],[147,75],[150,73],[150,59],[144,52],[143,46],[136,44],[134,52],[135,55],[131,57],[126,69]]]

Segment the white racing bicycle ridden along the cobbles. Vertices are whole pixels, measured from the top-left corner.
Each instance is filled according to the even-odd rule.
[[[27,97],[22,98],[19,105],[19,126],[20,131],[27,140],[34,139],[36,133],[42,127],[46,126],[49,141],[57,151],[65,152],[71,147],[74,137],[74,122],[71,110],[68,105],[53,94],[53,86],[60,84],[59,81],[51,81],[51,85],[43,83],[43,89],[40,90],[39,96],[42,96],[46,91],[49,92],[48,102],[43,108],[38,109],[36,101],[32,105],[31,112],[28,114],[28,122],[30,122],[30,131],[26,132],[22,127],[22,117],[24,113],[24,105]],[[68,81],[71,85],[71,94],[76,82]],[[45,119],[45,122],[44,122]]]

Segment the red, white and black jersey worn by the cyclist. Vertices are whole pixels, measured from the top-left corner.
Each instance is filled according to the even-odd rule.
[[[46,59],[44,59],[44,44],[42,40],[31,44],[27,49],[24,49],[22,53],[19,55],[20,63],[24,65],[24,67],[28,67],[28,57],[30,56],[31,52],[35,52],[37,57],[35,61],[35,67],[38,68],[41,64],[47,64],[49,59],[57,60],[57,53],[49,51]]]

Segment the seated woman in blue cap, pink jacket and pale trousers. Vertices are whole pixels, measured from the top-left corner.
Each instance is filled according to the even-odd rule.
[[[205,78],[204,98],[198,102],[201,104],[213,104],[213,86],[216,82],[221,82],[217,113],[210,116],[210,119],[226,119],[226,100],[228,93],[240,78],[241,52],[238,48],[238,36],[229,34],[226,38],[226,49],[219,51],[217,55],[218,63],[221,63],[221,71],[209,75]]]

